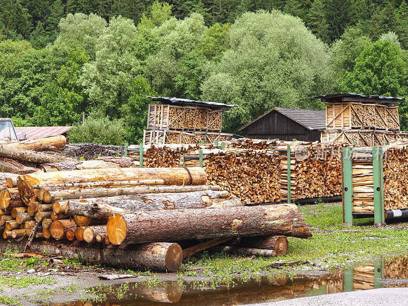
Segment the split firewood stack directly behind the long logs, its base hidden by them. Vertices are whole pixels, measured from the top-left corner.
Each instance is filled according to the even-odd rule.
[[[184,155],[186,167],[199,166],[199,151]],[[281,200],[279,166],[275,151],[234,149],[203,150],[208,184],[236,195],[245,205]]]

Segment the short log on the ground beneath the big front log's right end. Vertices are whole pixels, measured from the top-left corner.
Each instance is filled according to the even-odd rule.
[[[261,236],[243,237],[237,246],[275,250],[277,256],[283,256],[288,252],[288,245],[288,238],[285,236]]]

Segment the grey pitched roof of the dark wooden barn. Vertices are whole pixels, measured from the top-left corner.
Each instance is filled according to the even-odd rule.
[[[324,130],[326,128],[326,111],[275,107],[267,111],[265,114],[259,116],[257,119],[252,120],[248,124],[242,126],[240,131],[244,130],[253,122],[260,120],[273,111],[281,113],[300,125],[303,125],[308,130]]]

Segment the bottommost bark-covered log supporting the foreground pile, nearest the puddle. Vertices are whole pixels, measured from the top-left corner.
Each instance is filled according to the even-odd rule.
[[[24,248],[27,240],[21,242],[0,243],[0,249]],[[12,248],[12,249],[11,249]],[[80,241],[33,241],[31,251],[47,253],[50,256],[78,258],[78,254],[90,264],[101,264],[109,267],[174,272],[182,264],[183,251],[180,245],[167,242],[153,242],[134,245],[100,245],[81,243]]]

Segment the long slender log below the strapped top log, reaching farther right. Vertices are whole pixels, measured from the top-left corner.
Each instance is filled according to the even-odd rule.
[[[182,193],[205,190],[219,190],[218,186],[140,186],[140,187],[122,187],[122,188],[90,188],[90,189],[65,189],[65,190],[45,190],[43,201],[46,203],[80,199],[107,197],[116,195],[139,195],[148,193]],[[31,200],[31,198],[27,199]]]

